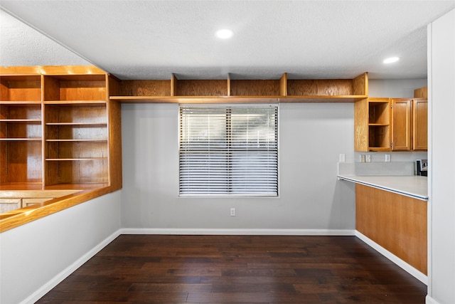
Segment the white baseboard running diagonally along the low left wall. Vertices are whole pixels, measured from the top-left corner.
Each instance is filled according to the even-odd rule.
[[[53,277],[48,283],[45,283],[41,288],[36,290],[34,293],[29,295],[25,300],[21,302],[21,304],[33,304],[36,303],[40,298],[43,297],[46,293],[48,293],[52,288],[54,288],[56,285],[58,285],[61,281],[65,280],[68,276],[70,276],[71,273],[73,273],[77,268],[82,266],[85,262],[90,260],[95,254],[97,254],[99,251],[101,251],[102,248],[105,248],[110,242],[114,241],[114,239],[117,238],[117,236],[120,235],[120,230],[115,231],[113,234],[108,236],[106,239],[104,239],[101,243],[99,243],[97,246],[92,248],[92,250],[88,251],[85,253],[83,256],[77,259],[73,264],[65,268],[62,272],[58,273],[57,276]]]

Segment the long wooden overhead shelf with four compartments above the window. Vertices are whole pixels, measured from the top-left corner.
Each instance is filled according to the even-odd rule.
[[[368,73],[353,79],[123,80],[120,103],[353,103],[368,97]]]

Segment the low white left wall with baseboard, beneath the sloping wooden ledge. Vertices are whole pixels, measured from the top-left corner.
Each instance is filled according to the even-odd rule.
[[[34,303],[107,245],[120,228],[120,191],[0,234],[0,303]]]

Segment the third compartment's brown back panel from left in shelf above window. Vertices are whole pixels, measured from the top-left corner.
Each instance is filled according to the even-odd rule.
[[[278,96],[279,80],[230,80],[232,96]]]

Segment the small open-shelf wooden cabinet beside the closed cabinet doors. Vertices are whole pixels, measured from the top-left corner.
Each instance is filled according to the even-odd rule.
[[[355,151],[390,151],[390,100],[364,98],[354,103]]]

